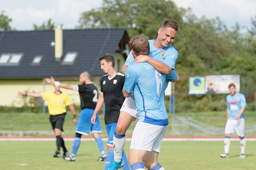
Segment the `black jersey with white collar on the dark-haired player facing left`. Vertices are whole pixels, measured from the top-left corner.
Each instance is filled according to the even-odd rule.
[[[120,109],[124,103],[123,87],[125,76],[116,73],[109,78],[108,74],[102,76],[100,81],[100,92],[103,93],[105,102],[105,124],[117,123]]]

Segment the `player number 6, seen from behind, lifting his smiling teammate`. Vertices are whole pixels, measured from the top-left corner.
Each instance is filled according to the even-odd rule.
[[[130,40],[134,58],[149,54],[149,43],[143,34]],[[163,60],[159,58],[159,60]],[[163,170],[157,162],[161,142],[168,126],[164,103],[164,90],[168,85],[165,74],[159,73],[147,62],[130,65],[125,72],[123,94],[130,97],[132,92],[139,115],[129,153],[132,170]]]

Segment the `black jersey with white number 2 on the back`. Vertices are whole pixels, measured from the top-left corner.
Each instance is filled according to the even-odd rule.
[[[92,82],[87,84],[79,84],[78,92],[80,96],[81,109],[95,109],[98,102],[98,89],[92,84]]]

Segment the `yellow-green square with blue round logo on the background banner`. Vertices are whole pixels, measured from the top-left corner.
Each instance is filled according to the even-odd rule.
[[[205,94],[205,77],[189,77],[189,94]]]

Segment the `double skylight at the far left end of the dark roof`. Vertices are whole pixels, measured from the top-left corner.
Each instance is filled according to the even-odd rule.
[[[22,53],[1,54],[0,64],[7,66],[18,65],[22,56]]]

